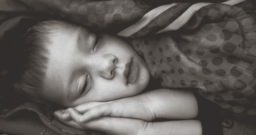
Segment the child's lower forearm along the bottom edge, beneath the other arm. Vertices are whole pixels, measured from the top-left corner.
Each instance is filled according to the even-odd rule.
[[[198,120],[148,122],[138,134],[202,134]]]

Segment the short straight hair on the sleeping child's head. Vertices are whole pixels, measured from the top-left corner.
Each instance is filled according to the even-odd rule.
[[[39,92],[42,89],[48,65],[50,36],[57,29],[59,20],[37,22],[18,42],[20,48],[20,66],[14,80],[17,91],[25,94],[30,100],[46,103]]]

